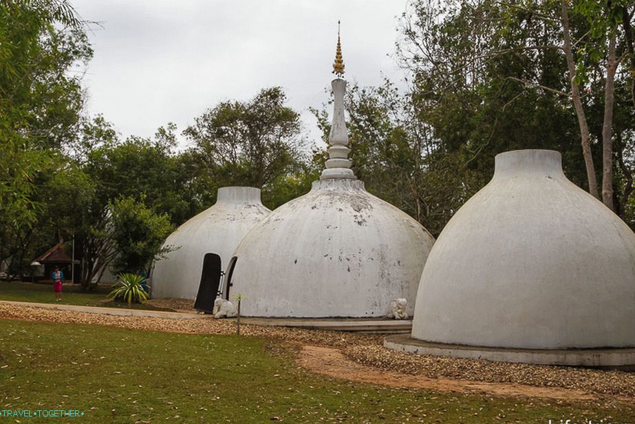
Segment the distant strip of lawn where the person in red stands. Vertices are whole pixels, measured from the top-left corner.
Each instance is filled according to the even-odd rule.
[[[128,304],[125,302],[108,301],[107,294],[110,290],[109,284],[100,285],[92,290],[82,290],[79,284],[63,286],[62,301],[56,302],[52,284],[0,282],[0,300],[127,308]],[[131,307],[134,309],[162,310],[162,308],[155,308],[149,304],[132,304]]]

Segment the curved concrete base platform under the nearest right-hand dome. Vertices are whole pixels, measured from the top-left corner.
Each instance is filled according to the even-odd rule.
[[[384,339],[384,346],[402,352],[440,357],[635,370],[635,348],[567,350],[482,348],[430,343],[413,339],[410,335],[388,336]]]

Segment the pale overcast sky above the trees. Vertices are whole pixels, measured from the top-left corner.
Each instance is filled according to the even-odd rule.
[[[178,131],[222,100],[248,100],[283,87],[311,141],[309,107],[328,100],[337,21],[345,78],[378,85],[400,80],[397,19],[406,0],[72,0],[95,50],[85,76],[88,112],[103,113],[125,138]]]

